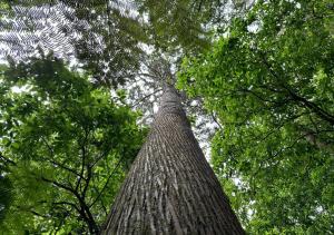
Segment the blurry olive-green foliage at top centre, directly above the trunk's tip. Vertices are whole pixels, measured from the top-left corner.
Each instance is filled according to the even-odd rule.
[[[213,2],[191,0],[140,0],[139,9],[148,16],[151,42],[163,51],[207,48],[207,33],[202,23],[209,18]]]

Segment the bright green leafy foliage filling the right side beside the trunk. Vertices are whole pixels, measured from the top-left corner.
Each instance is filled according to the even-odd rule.
[[[327,0],[258,1],[178,86],[223,128],[213,165],[255,234],[324,234],[334,224],[334,37]]]

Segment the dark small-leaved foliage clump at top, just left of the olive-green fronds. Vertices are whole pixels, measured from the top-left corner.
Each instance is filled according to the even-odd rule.
[[[89,26],[79,30],[82,38],[75,42],[77,58],[84,69],[100,85],[117,87],[134,78],[139,69],[147,42],[139,17],[127,1],[61,1],[73,9],[75,17]]]

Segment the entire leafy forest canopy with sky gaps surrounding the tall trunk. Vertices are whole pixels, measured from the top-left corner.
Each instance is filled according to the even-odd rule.
[[[98,234],[166,84],[247,233],[334,232],[331,0],[0,10],[0,233]]]

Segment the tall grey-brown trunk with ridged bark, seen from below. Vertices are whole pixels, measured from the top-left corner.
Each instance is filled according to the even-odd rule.
[[[165,89],[102,233],[244,234],[173,87]]]

